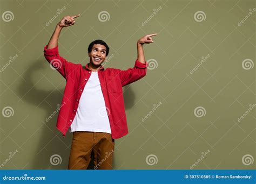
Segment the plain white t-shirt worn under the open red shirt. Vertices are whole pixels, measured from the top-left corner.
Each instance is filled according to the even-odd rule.
[[[70,132],[73,131],[111,133],[98,72],[92,72],[85,84],[76,116],[70,126]]]

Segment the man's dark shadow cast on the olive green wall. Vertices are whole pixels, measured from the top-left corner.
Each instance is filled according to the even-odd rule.
[[[18,87],[17,93],[19,96],[23,96],[23,101],[35,105],[35,107],[42,108],[45,111],[45,118],[52,114],[53,111],[56,110],[56,104],[60,104],[62,102],[62,97],[64,93],[64,88],[59,90],[43,90],[35,87],[35,84],[32,81],[32,76],[37,73],[38,70],[51,70],[49,67],[49,63],[46,60],[39,60],[33,62],[32,65],[26,70],[24,73],[24,79],[26,82],[21,82]],[[57,72],[57,71],[56,71]],[[57,72],[58,73],[58,72]],[[58,73],[59,74],[59,73]],[[59,74],[60,77],[62,77]],[[46,76],[47,77],[47,76]],[[60,78],[59,77],[59,78]],[[65,82],[65,81],[64,81]],[[38,84],[37,84],[38,85]],[[124,101],[125,101],[125,109],[132,108],[134,104],[134,93],[129,86],[125,86],[123,88],[124,92]],[[46,99],[51,106],[42,102]],[[62,137],[62,133],[56,129],[57,122],[56,114],[49,122],[44,120],[44,125],[42,125],[40,134],[36,135],[40,136],[39,142],[35,143],[36,151],[33,155],[33,158],[30,161],[32,162],[32,166],[30,168],[25,169],[67,169],[69,154],[71,148],[72,135],[67,132],[66,137]],[[39,123],[42,124],[42,120],[38,119]],[[31,122],[32,123],[32,122]],[[26,132],[32,134],[31,132]],[[34,136],[36,136],[34,135]],[[62,163],[60,165],[52,165],[50,162],[50,157],[53,154],[59,154],[62,158]],[[115,161],[113,159],[113,168],[115,168]],[[91,163],[87,169],[93,169],[93,159],[91,159]]]

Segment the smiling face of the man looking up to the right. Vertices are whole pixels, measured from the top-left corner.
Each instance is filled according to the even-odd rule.
[[[106,58],[106,47],[104,45],[94,44],[88,55],[90,57],[90,63],[100,66]]]

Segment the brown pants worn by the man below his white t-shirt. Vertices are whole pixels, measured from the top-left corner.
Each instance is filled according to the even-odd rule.
[[[68,169],[86,169],[93,155],[94,169],[113,169],[114,139],[110,133],[73,132]]]

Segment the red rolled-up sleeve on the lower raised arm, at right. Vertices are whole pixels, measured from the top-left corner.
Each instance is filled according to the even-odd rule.
[[[127,84],[142,79],[142,77],[146,75],[147,65],[147,62],[142,63],[136,60],[133,68],[129,68],[127,70],[120,70],[119,75],[122,86],[126,86]]]

